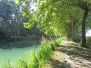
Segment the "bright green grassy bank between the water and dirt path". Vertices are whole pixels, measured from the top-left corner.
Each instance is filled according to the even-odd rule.
[[[34,51],[28,52],[28,59],[20,59],[15,64],[3,65],[2,68],[42,68],[42,66],[51,58],[53,50],[62,42],[61,39],[56,40],[46,40],[43,39],[41,42],[41,47],[38,52]]]

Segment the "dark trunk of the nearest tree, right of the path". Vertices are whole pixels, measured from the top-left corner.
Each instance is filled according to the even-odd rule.
[[[81,46],[87,47],[86,45],[86,32],[85,32],[85,22],[88,16],[88,11],[84,11],[82,19],[82,44]]]

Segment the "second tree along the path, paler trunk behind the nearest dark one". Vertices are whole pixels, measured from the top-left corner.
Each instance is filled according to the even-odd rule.
[[[70,9],[69,9],[70,8]],[[77,30],[79,27],[79,23],[80,23],[80,18],[82,17],[82,11],[80,11],[79,8],[74,8],[74,7],[66,7],[63,11],[66,11],[66,16],[68,16],[68,20],[69,22],[64,23],[66,24],[65,28],[65,32],[67,32],[67,37],[69,39],[72,39],[73,41],[76,41],[76,34],[77,34]],[[65,21],[64,21],[65,22]]]

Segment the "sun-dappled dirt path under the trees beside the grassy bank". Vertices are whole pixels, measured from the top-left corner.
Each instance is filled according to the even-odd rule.
[[[91,68],[91,50],[65,41],[57,47],[43,68]]]

